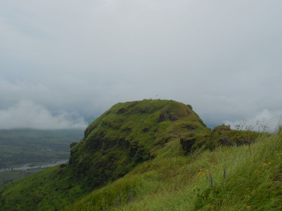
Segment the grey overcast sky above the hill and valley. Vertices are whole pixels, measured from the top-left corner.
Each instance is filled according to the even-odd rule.
[[[118,102],[209,126],[282,113],[281,0],[0,1],[0,129],[85,129]],[[273,123],[274,122],[274,123]]]

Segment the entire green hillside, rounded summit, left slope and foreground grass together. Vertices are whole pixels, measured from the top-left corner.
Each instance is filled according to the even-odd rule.
[[[0,187],[0,207],[1,210],[246,210],[261,201],[261,198],[251,200],[252,193],[267,198],[264,208],[275,208],[281,201],[278,186],[281,177],[280,170],[272,166],[281,169],[278,162],[282,154],[281,141],[278,142],[281,135],[263,133],[257,139],[252,138],[257,135],[245,131],[240,134],[229,125],[210,130],[190,105],[172,100],[117,103],[86,128],[79,143],[70,145],[68,165],[49,167]],[[250,148],[244,146],[248,144],[244,136],[252,140]],[[268,154],[261,147],[266,147]],[[268,168],[261,168],[263,164]],[[241,178],[242,175],[247,178]],[[271,185],[275,193],[267,195],[263,188],[270,183],[263,181],[269,179],[276,185]],[[264,186],[258,191],[261,183]],[[242,188],[250,190],[244,192],[246,197],[241,196]],[[234,197],[236,203],[246,204],[231,209],[237,206]],[[220,200],[216,201],[217,198]],[[269,200],[271,204],[267,204]]]

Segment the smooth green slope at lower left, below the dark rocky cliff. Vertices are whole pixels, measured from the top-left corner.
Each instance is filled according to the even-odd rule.
[[[0,210],[58,210],[86,193],[69,180],[66,164],[49,167],[38,173],[0,187]]]

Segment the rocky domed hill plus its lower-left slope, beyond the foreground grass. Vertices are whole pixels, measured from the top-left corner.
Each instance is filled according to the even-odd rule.
[[[228,126],[211,131],[183,103],[117,103],[86,128],[79,143],[70,145],[68,166],[51,167],[0,187],[0,206],[2,210],[58,210],[144,161],[165,164],[167,159],[187,159],[204,149],[242,143],[238,132]]]

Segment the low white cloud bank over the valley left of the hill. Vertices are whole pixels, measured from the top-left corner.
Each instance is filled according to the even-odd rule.
[[[87,123],[75,113],[61,111],[52,115],[44,106],[21,100],[14,106],[0,110],[0,129],[85,129]]]

